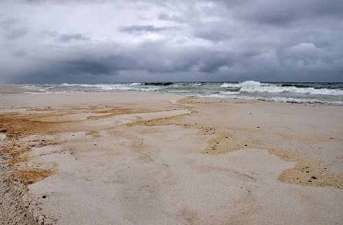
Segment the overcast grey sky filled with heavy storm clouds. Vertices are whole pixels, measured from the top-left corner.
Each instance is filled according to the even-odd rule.
[[[246,80],[343,82],[343,1],[0,1],[0,84]]]

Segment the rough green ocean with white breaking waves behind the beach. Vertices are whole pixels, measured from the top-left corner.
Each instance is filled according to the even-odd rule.
[[[43,93],[135,91],[228,99],[253,99],[343,106],[343,83],[141,82],[106,84],[27,84]]]

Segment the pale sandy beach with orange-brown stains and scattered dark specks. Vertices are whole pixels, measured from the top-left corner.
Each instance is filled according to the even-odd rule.
[[[2,224],[342,224],[343,107],[1,91]]]

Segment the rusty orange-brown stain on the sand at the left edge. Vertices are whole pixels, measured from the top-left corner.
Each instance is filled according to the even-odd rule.
[[[70,123],[78,121],[69,120],[70,115],[78,115],[80,113],[108,113],[108,115],[92,116],[88,119],[99,119],[105,117],[112,117],[115,115],[125,115],[132,113],[152,112],[152,110],[145,110],[141,108],[119,108],[108,107],[105,108],[92,106],[88,108],[70,108],[70,109],[55,109],[51,107],[46,108],[27,108],[27,111],[37,111],[43,113],[2,113],[0,114],[0,128],[1,133],[6,134],[0,152],[8,154],[12,159],[10,165],[14,168],[10,179],[21,180],[25,187],[31,185],[38,180],[43,180],[54,174],[57,170],[57,165],[54,164],[49,169],[28,168],[22,166],[29,158],[27,152],[32,150],[32,147],[43,147],[45,145],[56,145],[59,142],[54,140],[40,140],[31,139],[22,141],[22,137],[30,135],[45,135],[57,134],[60,132],[74,131]],[[94,137],[98,137],[98,132],[87,132]]]

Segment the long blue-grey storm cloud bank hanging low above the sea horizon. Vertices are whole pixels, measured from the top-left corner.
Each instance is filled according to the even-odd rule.
[[[113,49],[122,49],[120,46]],[[167,54],[166,54],[167,53]],[[101,79],[113,78],[121,71],[146,71],[159,74],[162,80],[173,80],[170,73],[191,73],[203,75],[208,80],[260,80],[307,81],[311,78],[320,79],[320,72],[327,78],[340,79],[342,66],[337,60],[342,60],[342,54],[336,57],[329,55],[311,43],[300,43],[280,47],[275,58],[265,56],[263,50],[246,48],[239,51],[211,50],[208,48],[188,47],[174,49],[163,42],[147,42],[133,49],[126,49],[119,54],[108,56],[88,56],[78,59],[51,60],[44,67],[39,67],[34,73],[23,75],[21,82],[47,80],[47,82],[99,82]],[[329,64],[330,69],[318,67],[318,64]],[[223,73],[222,68],[231,69],[239,64],[235,73]],[[280,66],[281,65],[281,66]]]

